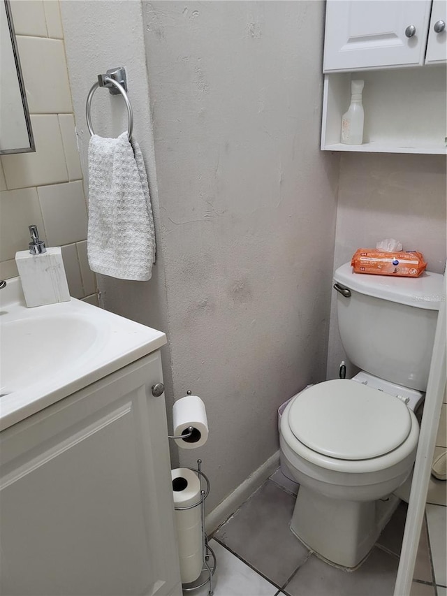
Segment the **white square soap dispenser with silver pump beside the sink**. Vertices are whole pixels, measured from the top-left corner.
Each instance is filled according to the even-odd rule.
[[[60,247],[46,248],[37,226],[29,226],[29,250],[15,253],[27,307],[68,302],[67,278]]]

